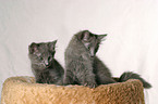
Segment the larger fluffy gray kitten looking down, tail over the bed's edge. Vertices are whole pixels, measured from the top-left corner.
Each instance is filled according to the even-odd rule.
[[[74,35],[65,50],[64,84],[82,84],[95,88],[99,84],[114,83],[109,68],[96,56],[99,44],[107,35],[95,35],[83,30]],[[144,88],[150,83],[139,75],[126,72],[121,75],[119,82],[129,79],[139,79]]]

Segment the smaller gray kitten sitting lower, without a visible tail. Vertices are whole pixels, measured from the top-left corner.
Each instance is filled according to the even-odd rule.
[[[28,47],[32,70],[38,83],[62,84],[63,67],[53,58],[56,42],[33,42]]]

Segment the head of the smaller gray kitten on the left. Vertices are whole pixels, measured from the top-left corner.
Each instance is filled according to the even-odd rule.
[[[33,42],[29,47],[29,58],[32,64],[36,64],[39,68],[46,68],[51,66],[53,55],[56,53],[56,42]]]

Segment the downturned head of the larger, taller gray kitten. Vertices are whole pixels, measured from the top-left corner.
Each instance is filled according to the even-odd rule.
[[[99,44],[106,36],[107,35],[95,35],[89,32],[88,30],[83,30],[80,35],[77,35],[78,39],[89,51],[89,55],[92,57],[94,57],[95,54],[97,53]]]

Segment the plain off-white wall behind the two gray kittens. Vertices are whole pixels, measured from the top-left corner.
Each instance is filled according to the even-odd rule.
[[[113,77],[135,72],[153,88],[146,104],[158,99],[158,0],[0,0],[0,89],[13,76],[33,76],[32,42],[58,39],[56,58],[80,30],[108,34],[97,55]]]

